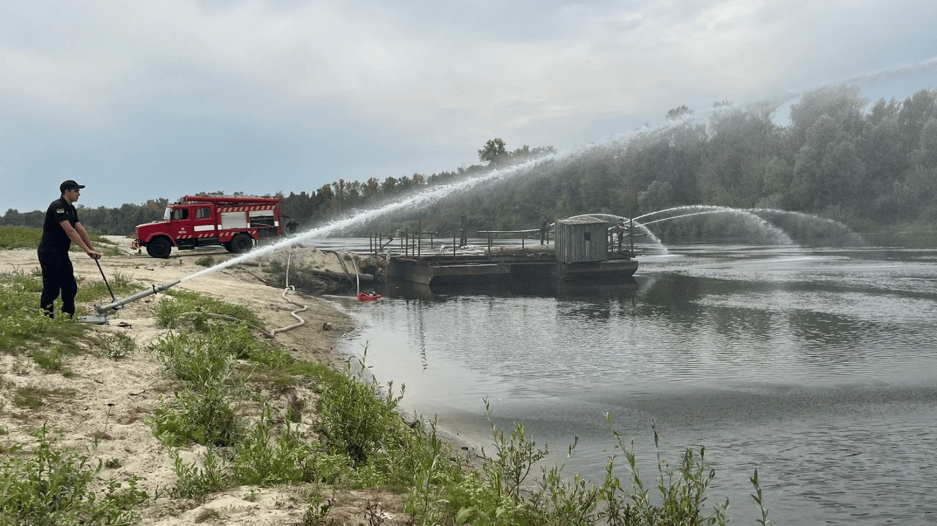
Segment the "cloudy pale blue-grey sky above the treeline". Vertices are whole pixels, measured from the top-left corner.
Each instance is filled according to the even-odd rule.
[[[426,176],[851,81],[937,88],[933,0],[0,0],[0,213]],[[777,118],[783,116],[776,116]]]

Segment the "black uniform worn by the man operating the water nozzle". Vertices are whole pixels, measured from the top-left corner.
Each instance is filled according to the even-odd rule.
[[[68,257],[71,239],[59,223],[68,221],[71,226],[79,223],[78,210],[65,197],[52,201],[46,210],[42,224],[42,241],[39,241],[39,266],[42,268],[42,296],[39,305],[52,317],[52,302],[62,294],[62,312],[75,315],[75,295],[78,282],[75,270]]]

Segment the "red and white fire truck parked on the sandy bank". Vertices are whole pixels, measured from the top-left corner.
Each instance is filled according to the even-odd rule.
[[[283,235],[276,197],[186,196],[166,207],[160,221],[137,226],[133,247],[153,257],[170,256],[172,247],[191,250],[221,245],[244,253],[254,242]]]

